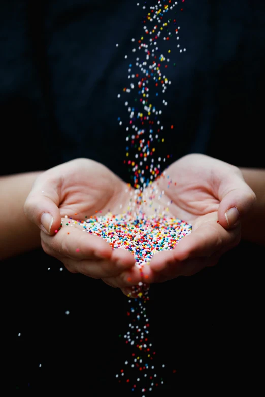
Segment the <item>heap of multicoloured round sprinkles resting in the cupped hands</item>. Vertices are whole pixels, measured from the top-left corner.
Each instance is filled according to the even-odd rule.
[[[169,216],[128,214],[93,217],[82,223],[88,233],[104,238],[112,248],[132,252],[141,269],[156,252],[173,249],[191,232],[191,225]]]

